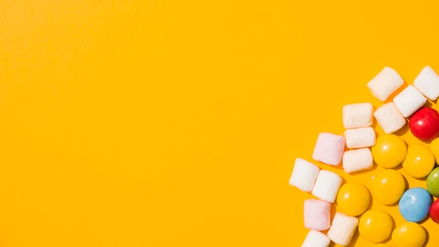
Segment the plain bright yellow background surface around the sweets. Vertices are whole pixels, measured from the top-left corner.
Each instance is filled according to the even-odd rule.
[[[436,2],[0,1],[0,246],[300,246],[295,158],[439,72]]]

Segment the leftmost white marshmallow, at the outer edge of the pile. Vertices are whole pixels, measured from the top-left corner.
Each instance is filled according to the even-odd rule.
[[[320,168],[304,159],[297,158],[292,168],[290,185],[304,192],[311,192]]]

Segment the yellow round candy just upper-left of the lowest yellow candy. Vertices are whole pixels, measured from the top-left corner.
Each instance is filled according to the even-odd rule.
[[[366,211],[358,222],[358,232],[363,238],[380,243],[389,239],[393,229],[393,219],[389,213],[378,209]]]

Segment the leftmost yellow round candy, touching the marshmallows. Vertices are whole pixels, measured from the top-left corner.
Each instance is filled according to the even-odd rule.
[[[369,207],[369,190],[359,182],[346,182],[337,194],[337,205],[346,215],[357,216]]]

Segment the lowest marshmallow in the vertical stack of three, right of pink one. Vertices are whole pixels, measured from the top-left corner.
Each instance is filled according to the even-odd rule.
[[[374,159],[368,147],[353,149],[343,154],[343,169],[345,173],[363,171],[372,168]]]

